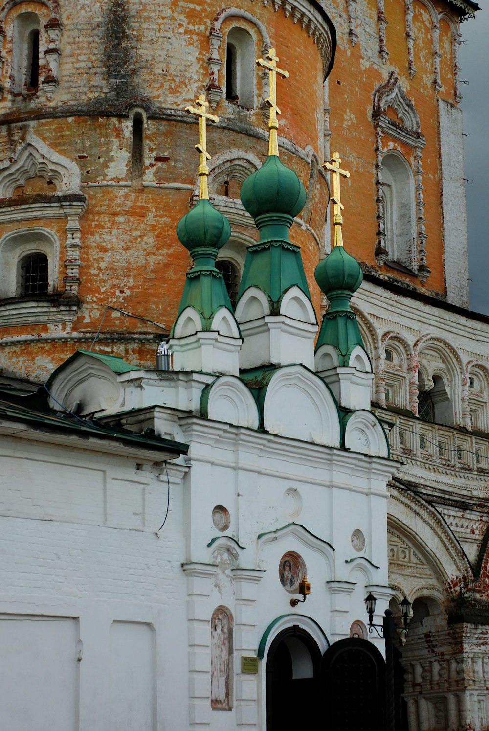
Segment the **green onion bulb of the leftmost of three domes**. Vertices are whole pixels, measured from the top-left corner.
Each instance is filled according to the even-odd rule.
[[[230,235],[230,222],[216,211],[208,198],[201,198],[177,225],[177,236],[189,251],[202,246],[221,249]]]

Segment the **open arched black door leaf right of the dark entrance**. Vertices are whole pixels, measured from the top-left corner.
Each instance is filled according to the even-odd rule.
[[[335,731],[383,731],[385,663],[367,640],[347,637],[322,656],[320,684],[328,727]]]

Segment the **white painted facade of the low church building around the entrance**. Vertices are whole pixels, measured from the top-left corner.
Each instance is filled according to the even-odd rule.
[[[265,659],[287,622],[312,633],[322,651],[348,637],[355,620],[365,621],[369,588],[379,591],[382,614],[391,594],[386,483],[395,464],[320,443],[327,439],[315,443],[314,435],[294,438],[305,404],[299,375],[295,398],[287,378],[270,392],[269,418],[280,432],[273,434],[219,420],[219,398],[213,419],[200,417],[211,376],[115,376],[89,355],[60,369],[51,384],[57,399],[83,403],[86,391],[86,409],[93,409],[97,393],[107,402],[112,382],[112,413],[102,423],[152,426],[190,445],[188,457],[170,463],[153,453],[113,453],[110,444],[94,452],[75,438],[60,445],[2,423],[12,433],[1,455],[0,631],[7,648],[16,647],[1,689],[6,728],[265,729],[265,660],[257,675],[240,669],[270,624],[282,617]],[[228,390],[229,399],[229,383]],[[234,398],[240,421],[242,400]],[[327,418],[339,425],[333,398],[326,403]],[[216,507],[230,516],[224,531],[213,523]],[[365,537],[361,550],[352,545],[355,531]],[[296,594],[279,577],[281,556],[291,550],[311,582],[311,595],[295,608]],[[235,628],[230,713],[209,701],[210,621],[220,605]],[[30,684],[35,690],[26,693]],[[39,704],[48,710],[41,725],[29,726]]]

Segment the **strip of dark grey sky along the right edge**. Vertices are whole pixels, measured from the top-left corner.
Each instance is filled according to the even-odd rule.
[[[467,223],[469,233],[470,308],[489,314],[489,10],[460,25],[460,84],[463,95]]]

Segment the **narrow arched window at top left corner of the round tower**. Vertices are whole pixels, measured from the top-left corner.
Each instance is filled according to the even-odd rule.
[[[39,16],[21,12],[14,20],[12,91],[33,93],[39,86]]]

